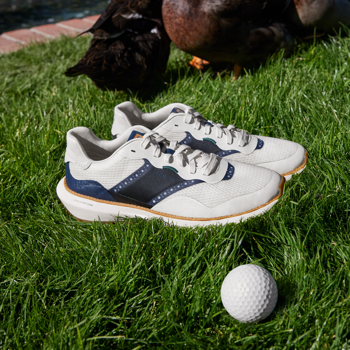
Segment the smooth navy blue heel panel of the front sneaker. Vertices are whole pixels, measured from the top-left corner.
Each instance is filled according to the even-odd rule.
[[[93,180],[76,180],[69,170],[69,162],[66,163],[66,183],[74,192],[84,196],[89,196],[104,201],[116,202],[108,191],[97,181]]]

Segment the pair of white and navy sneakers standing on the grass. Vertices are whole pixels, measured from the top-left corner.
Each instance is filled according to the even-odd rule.
[[[295,142],[225,127],[181,103],[153,113],[121,103],[112,136],[101,140],[86,127],[67,133],[57,195],[79,220],[238,223],[269,210],[307,162]]]

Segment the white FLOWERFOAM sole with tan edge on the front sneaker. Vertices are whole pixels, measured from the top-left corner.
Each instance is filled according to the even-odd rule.
[[[108,223],[118,221],[121,218],[161,218],[163,221],[175,225],[193,227],[198,225],[208,226],[213,224],[239,223],[241,220],[263,214],[271,209],[282,196],[285,181],[285,178],[282,176],[281,183],[279,184],[279,194],[267,203],[260,205],[260,207],[240,214],[215,218],[191,218],[170,215],[152,209],[139,207],[138,205],[109,202],[84,196],[69,189],[65,182],[65,177],[59,181],[56,192],[69,214],[79,221],[100,221]]]

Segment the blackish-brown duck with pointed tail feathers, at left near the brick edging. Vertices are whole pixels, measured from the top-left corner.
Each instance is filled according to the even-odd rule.
[[[93,35],[84,56],[64,74],[85,74],[101,90],[126,90],[164,73],[170,39],[161,5],[161,0],[112,0],[84,32]]]

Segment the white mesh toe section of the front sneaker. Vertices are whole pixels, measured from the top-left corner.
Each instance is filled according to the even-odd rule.
[[[198,183],[170,195],[166,200],[179,196],[187,196],[209,208],[214,208],[231,198],[254,193],[264,188],[271,181],[273,174],[275,174],[275,172],[267,168],[242,164],[235,161],[230,163],[235,167],[235,173],[230,180],[220,181],[215,184],[207,182]],[[261,198],[261,202],[267,202],[270,198],[278,195],[279,188],[276,187],[274,190],[276,194],[260,194],[261,197],[268,197],[266,201],[265,197]]]

